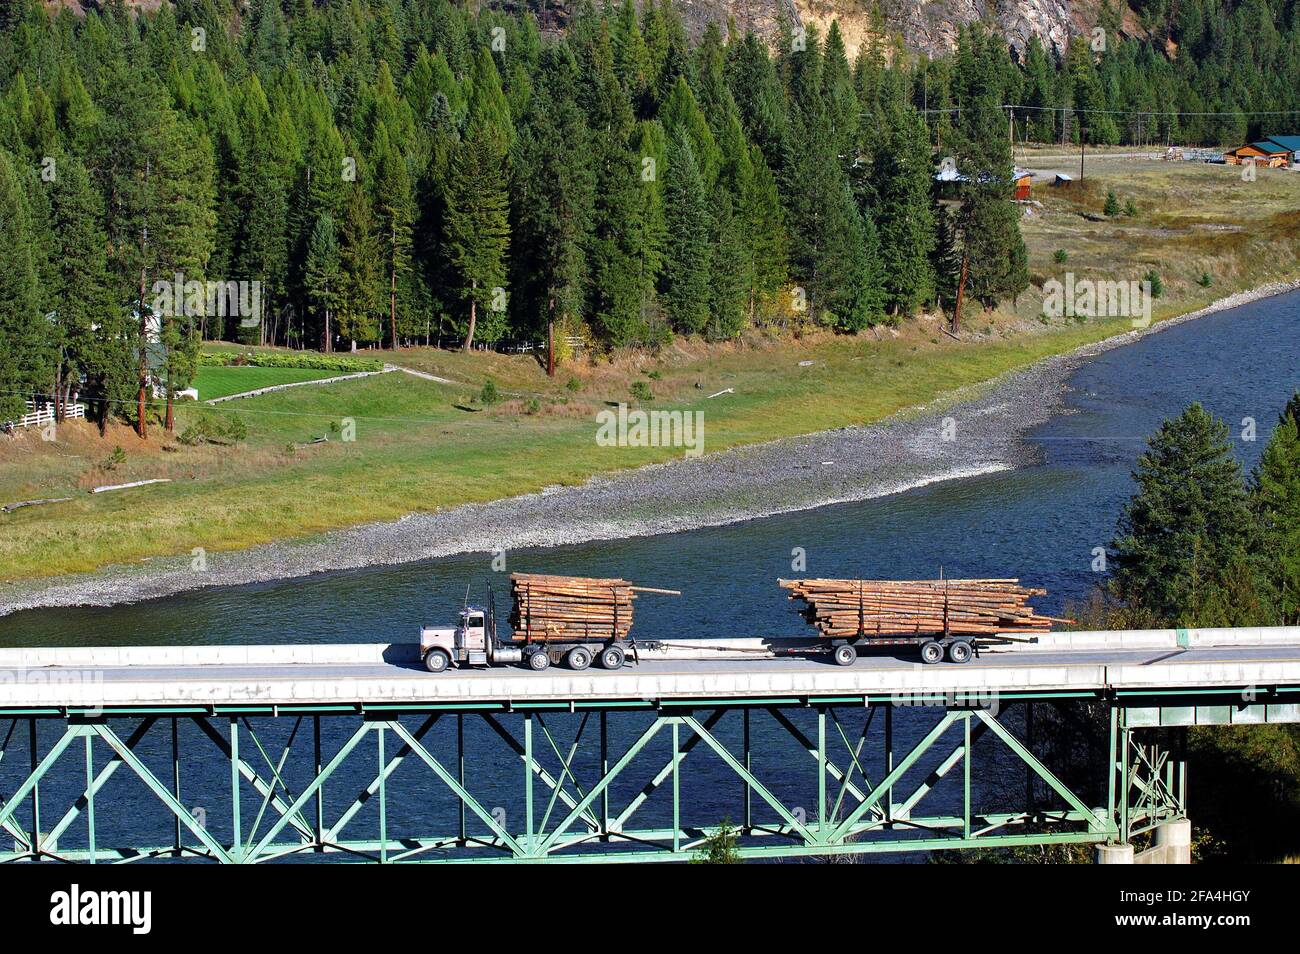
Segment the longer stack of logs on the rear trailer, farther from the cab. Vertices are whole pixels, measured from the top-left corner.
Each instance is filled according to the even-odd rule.
[[[807,603],[803,616],[823,636],[837,638],[920,634],[993,636],[1046,633],[1030,597],[1046,590],[1019,580],[781,580],[790,599]]]

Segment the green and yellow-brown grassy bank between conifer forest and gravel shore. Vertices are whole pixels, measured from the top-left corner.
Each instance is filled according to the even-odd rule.
[[[73,498],[0,515],[0,580],[246,547],[680,456],[595,443],[594,415],[637,403],[636,382],[653,391],[650,407],[703,411],[706,451],[876,421],[1128,330],[1127,318],[1045,318],[1041,283],[1066,270],[1106,279],[1158,270],[1157,320],[1300,276],[1300,174],[1261,170],[1247,183],[1222,166],[1117,159],[1097,160],[1088,175],[1070,188],[1035,187],[1040,204],[1023,229],[1036,287],[1014,307],[968,309],[961,341],[933,315],[857,338],[753,333],[727,344],[679,342],[656,355],[576,359],[554,380],[532,356],[416,348],[382,357],[455,383],[389,373],[181,408],[178,429],[198,415],[238,415],[248,438],[234,447],[188,447],[159,429],[150,442],[125,426],[100,437],[79,422],[51,443],[0,438],[0,504]],[[1132,198],[1138,214],[1106,220],[1108,187],[1121,203]],[[1054,261],[1058,248],[1063,264]],[[477,396],[489,378],[502,399],[485,407]],[[150,477],[172,482],[86,493]]]

